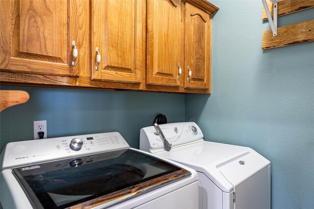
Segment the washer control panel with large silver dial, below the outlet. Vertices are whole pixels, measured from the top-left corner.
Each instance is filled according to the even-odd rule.
[[[130,148],[118,132],[17,141],[3,151],[1,171],[26,164],[49,162],[82,155]],[[72,162],[72,166],[80,162]]]

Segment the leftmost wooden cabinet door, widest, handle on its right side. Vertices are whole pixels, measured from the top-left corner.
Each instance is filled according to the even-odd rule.
[[[73,0],[1,0],[1,69],[78,75],[72,66],[77,41]]]

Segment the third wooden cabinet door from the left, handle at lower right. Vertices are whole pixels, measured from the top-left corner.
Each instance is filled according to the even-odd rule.
[[[146,83],[180,86],[183,68],[183,3],[180,0],[148,1],[148,70]]]

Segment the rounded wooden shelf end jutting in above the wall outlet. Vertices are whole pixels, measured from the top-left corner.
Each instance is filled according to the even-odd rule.
[[[13,105],[27,102],[29,94],[25,91],[0,90],[0,111]]]

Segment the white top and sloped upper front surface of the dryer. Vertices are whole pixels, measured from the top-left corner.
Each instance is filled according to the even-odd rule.
[[[225,192],[233,191],[236,184],[248,178],[256,170],[270,164],[251,148],[209,141],[189,144],[157,154],[204,173]],[[240,164],[240,161],[244,161],[244,165]]]

